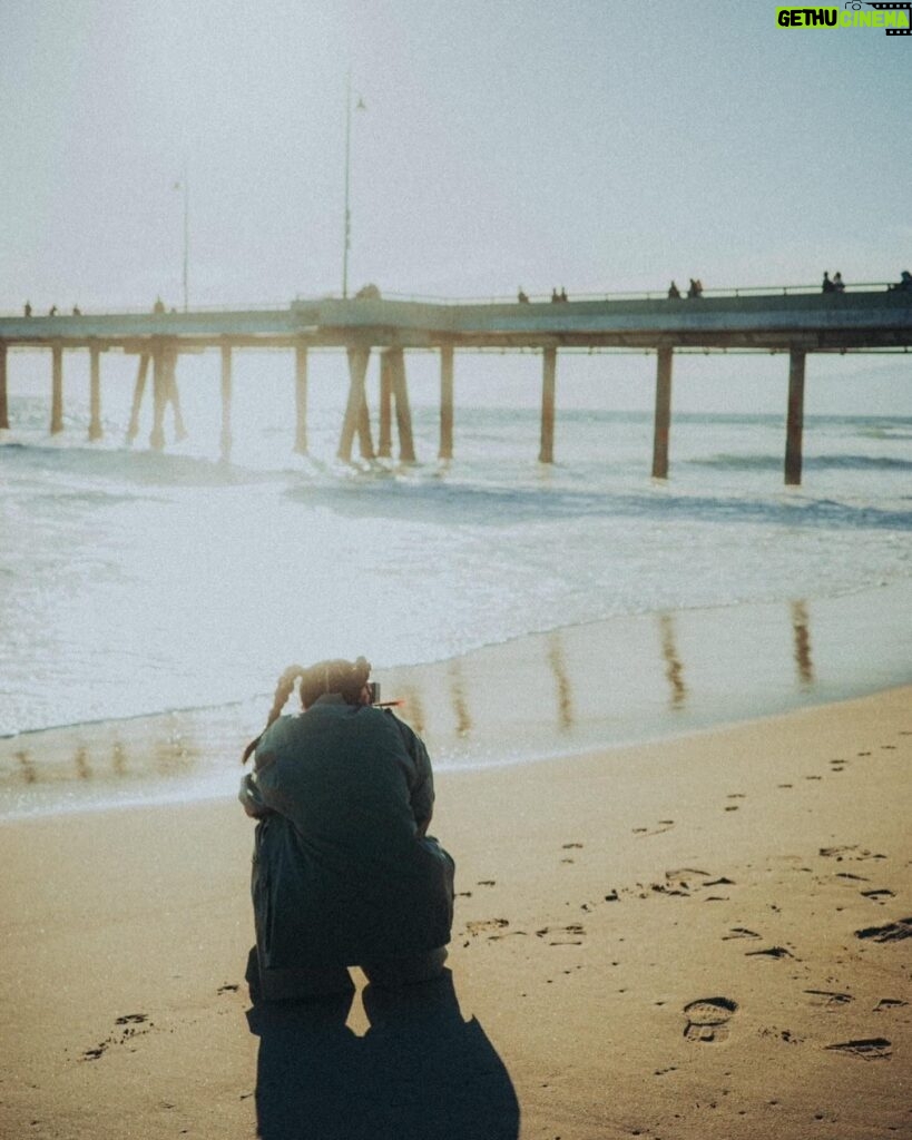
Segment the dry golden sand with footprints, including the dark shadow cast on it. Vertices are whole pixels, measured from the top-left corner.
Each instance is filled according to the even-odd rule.
[[[445,983],[253,1011],[227,799],[0,829],[3,1137],[912,1134],[912,690],[446,772]]]

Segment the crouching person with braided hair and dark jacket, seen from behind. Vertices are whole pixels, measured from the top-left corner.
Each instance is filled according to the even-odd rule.
[[[363,657],[290,666],[244,751],[253,772],[239,799],[258,821],[254,1001],[350,993],[350,966],[381,987],[443,969],[455,864],[427,834],[431,762],[370,703],[369,675]],[[299,679],[303,711],[282,716]]]

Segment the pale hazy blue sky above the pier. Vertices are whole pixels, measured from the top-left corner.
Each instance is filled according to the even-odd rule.
[[[0,311],[180,304],[185,180],[192,307],[340,293],[349,74],[352,290],[895,280],[912,38],[775,8],[2,0]]]

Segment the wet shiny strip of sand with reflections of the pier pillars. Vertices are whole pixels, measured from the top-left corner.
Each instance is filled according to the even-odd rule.
[[[621,616],[376,669],[435,771],[675,739],[912,682],[912,581],[838,597]],[[233,797],[268,697],[0,739],[0,821]],[[286,711],[293,711],[292,703]]]

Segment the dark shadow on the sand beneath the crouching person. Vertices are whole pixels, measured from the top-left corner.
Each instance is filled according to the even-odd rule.
[[[513,1084],[449,970],[402,991],[368,985],[369,1028],[345,1025],[352,995],[260,1004],[258,1135],[263,1140],[516,1140]]]

